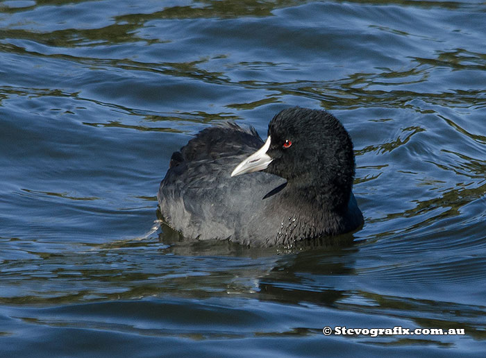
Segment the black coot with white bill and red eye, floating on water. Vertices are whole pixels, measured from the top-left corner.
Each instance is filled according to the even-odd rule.
[[[202,130],[172,155],[158,203],[187,239],[291,246],[362,225],[354,174],[353,143],[340,121],[288,108],[270,121],[265,142],[234,123]]]

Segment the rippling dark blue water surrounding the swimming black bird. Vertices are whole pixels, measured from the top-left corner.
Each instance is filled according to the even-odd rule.
[[[0,357],[485,357],[485,33],[474,0],[1,1]],[[355,244],[151,231],[173,151],[290,105],[353,137]]]

